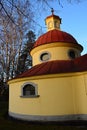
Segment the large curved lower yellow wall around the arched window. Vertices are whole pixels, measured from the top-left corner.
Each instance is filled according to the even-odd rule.
[[[23,98],[26,82],[38,86],[39,97]],[[9,83],[9,112],[24,115],[87,114],[87,72],[14,79]]]

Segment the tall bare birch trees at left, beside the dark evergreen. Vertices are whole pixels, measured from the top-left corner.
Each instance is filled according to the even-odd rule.
[[[2,3],[0,4],[2,5]],[[6,80],[14,77],[18,69],[17,64],[23,48],[25,34],[30,29],[32,12],[28,10],[29,6],[30,3],[27,0],[25,3],[21,3],[19,0],[15,5],[15,9],[12,9],[12,12],[9,11],[9,8],[4,9],[4,5],[1,8],[0,75]]]

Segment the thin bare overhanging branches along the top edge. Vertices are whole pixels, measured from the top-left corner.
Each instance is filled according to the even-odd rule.
[[[65,2],[67,1],[67,3],[75,3],[75,2],[80,3],[82,0],[64,0],[64,1]],[[28,7],[28,11],[31,12],[31,8],[33,7],[33,10],[35,10],[36,5],[38,5],[38,6],[39,5],[41,5],[41,6],[47,5],[50,7],[50,4],[49,4],[50,2],[58,2],[58,4],[60,6],[62,6],[64,1],[62,1],[62,0],[34,0],[34,1],[30,1],[30,0],[0,0],[0,14],[2,14],[3,17],[7,16],[15,24],[15,20],[11,17],[13,15],[13,13],[15,12],[15,10],[18,10],[25,17],[29,18],[30,15],[27,15],[25,13],[25,11],[27,10],[26,7]],[[25,2],[27,3],[26,4],[27,6],[23,7],[23,5],[25,5]],[[20,3],[21,8],[18,6],[18,3]],[[35,11],[38,12],[38,9],[36,8]],[[32,19],[32,17],[31,17],[31,19]],[[30,18],[29,18],[29,20],[30,20]],[[35,22],[34,19],[32,19],[32,21]]]

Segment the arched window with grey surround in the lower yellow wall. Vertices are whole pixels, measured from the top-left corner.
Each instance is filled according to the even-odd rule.
[[[23,84],[21,96],[22,97],[35,97],[35,96],[37,97],[38,96],[37,85],[31,82]]]

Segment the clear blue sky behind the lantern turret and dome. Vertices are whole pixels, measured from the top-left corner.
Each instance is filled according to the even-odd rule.
[[[63,7],[62,7],[63,6]],[[42,26],[44,33],[46,32],[45,18],[51,15],[51,9],[54,14],[62,18],[61,30],[70,33],[79,44],[84,48],[82,55],[87,53],[87,0],[80,3],[68,2],[58,5],[58,2],[49,2],[46,9],[38,13],[37,23]],[[39,10],[39,7],[38,7]],[[39,11],[38,11],[39,12]]]

